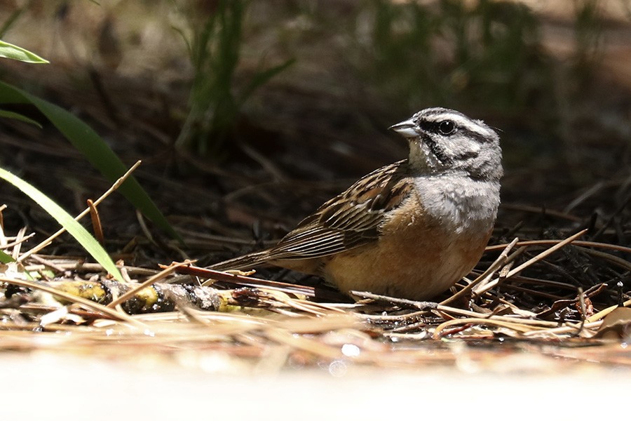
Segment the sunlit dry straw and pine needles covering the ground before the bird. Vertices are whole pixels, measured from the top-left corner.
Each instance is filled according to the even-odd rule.
[[[526,300],[527,295],[512,295],[527,292],[539,300],[546,288],[559,288],[553,281],[526,280],[520,274],[553,253],[570,253],[586,231],[562,240],[515,239],[490,246],[487,253],[500,251],[498,257],[481,273],[472,274],[473,281],[461,281],[441,302],[360,291],[353,302],[323,301],[318,288],[257,279],[249,273],[224,274],[191,262],[162,270],[119,262],[128,279],[123,284],[85,258],[22,250],[29,238],[26,230],[17,236],[3,232],[3,250],[18,262],[3,265],[0,278],[0,351],[55,349],[117,358],[158,353],[175,358],[186,350],[217,352],[251,367],[345,361],[403,368],[454,364],[461,352],[456,349],[466,346],[467,358],[473,361],[484,361],[498,349],[536,349],[566,359],[592,361],[597,356],[602,363],[629,365],[620,358],[619,343],[629,339],[631,317],[620,311],[631,300],[624,300],[621,292],[624,307],[607,298],[599,301],[602,284],[574,293],[566,284],[566,297],[548,294],[548,305],[538,312],[533,310],[536,301]],[[580,244],[586,250],[631,253],[613,244]],[[531,250],[538,251],[520,263]],[[630,266],[606,251],[592,258],[599,265],[627,270]],[[27,273],[37,280],[28,280]],[[201,286],[207,279],[215,283]]]

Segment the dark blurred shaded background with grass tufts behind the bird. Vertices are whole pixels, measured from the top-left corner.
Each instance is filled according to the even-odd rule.
[[[0,17],[1,39],[50,60],[2,60],[0,80],[142,159],[136,177],[189,246],[116,196],[100,208],[108,248],[132,263],[273,243],[404,158],[387,127],[430,106],[501,133],[494,241],[591,225],[629,245],[631,1],[0,0]],[[0,120],[0,166],[79,213],[109,182],[18,109],[43,128]],[[6,185],[0,202],[9,227],[52,229]]]

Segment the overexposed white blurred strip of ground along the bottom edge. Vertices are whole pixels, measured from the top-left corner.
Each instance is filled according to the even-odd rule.
[[[452,367],[247,370],[219,356],[97,359],[5,353],[5,420],[606,419],[628,412],[631,370],[537,354]],[[186,361],[189,359],[190,361]],[[490,368],[490,369],[489,369]],[[334,374],[332,374],[334,373]],[[625,409],[626,408],[626,409]],[[458,417],[458,418],[456,418]]]

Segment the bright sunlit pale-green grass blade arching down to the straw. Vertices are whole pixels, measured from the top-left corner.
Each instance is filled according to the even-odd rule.
[[[107,272],[109,272],[114,278],[119,282],[125,282],[121,272],[118,271],[114,262],[112,262],[111,258],[107,254],[107,251],[101,247],[98,241],[85,229],[76,222],[72,215],[67,213],[65,210],[61,208],[61,206],[57,205],[53,200],[51,200],[46,194],[43,194],[38,189],[30,185],[25,180],[9,173],[8,171],[0,168],[0,178],[10,182],[18,189],[22,190],[24,194],[29,196],[33,201],[35,201],[43,210],[46,210],[57,220],[57,222],[62,225],[66,229],[69,234],[74,236],[76,241],[79,241],[81,246],[86,249],[86,251],[97,261],[102,267],[104,267]]]

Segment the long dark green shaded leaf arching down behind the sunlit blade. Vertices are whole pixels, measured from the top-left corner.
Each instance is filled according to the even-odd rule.
[[[15,86],[0,81],[0,103],[30,103],[55,125],[62,135],[76,147],[86,159],[97,168],[110,182],[116,182],[127,171],[123,161],[114,154],[107,143],[81,119],[65,109],[22,91]],[[164,215],[133,177],[118,187],[130,203],[140,210],[149,220],[167,232],[172,238],[184,243],[182,237],[175,232]]]

